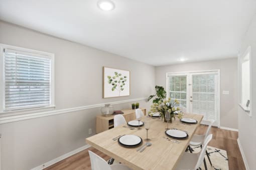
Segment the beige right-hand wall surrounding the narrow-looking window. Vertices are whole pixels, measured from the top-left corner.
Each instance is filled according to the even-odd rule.
[[[246,32],[246,35],[242,41],[240,54],[242,55],[248,46],[251,46],[251,83],[252,91],[250,92],[252,106],[252,117],[248,116],[247,113],[238,107],[238,138],[241,143],[241,148],[245,156],[245,163],[248,169],[256,169],[256,15],[254,15],[253,20]],[[239,60],[242,56],[239,56]],[[240,63],[238,62],[238,65]],[[238,67],[238,82],[241,81],[240,67]],[[241,101],[240,91],[241,86],[238,86],[238,102]]]

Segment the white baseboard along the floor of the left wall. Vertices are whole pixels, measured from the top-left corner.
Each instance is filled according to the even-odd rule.
[[[61,156],[59,156],[59,157],[57,157],[57,158],[55,158],[55,159],[52,159],[52,160],[50,160],[50,161],[48,161],[48,162],[46,162],[46,163],[44,163],[44,164],[41,164],[41,165],[39,165],[39,166],[37,166],[37,167],[34,167],[34,168],[32,168],[31,170],[41,170],[41,169],[43,169],[43,168],[46,168],[46,167],[48,167],[48,166],[51,166],[51,165],[54,164],[54,163],[57,163],[57,162],[61,161],[61,160],[65,159],[65,158],[67,158],[67,157],[69,157],[69,156],[72,156],[73,154],[76,154],[76,153],[78,153],[78,152],[80,152],[80,151],[82,151],[82,150],[84,150],[84,149],[87,149],[87,148],[89,148],[89,147],[90,147],[90,145],[89,145],[89,144],[86,144],[86,145],[84,145],[84,146],[82,146],[82,147],[79,147],[79,148],[77,148],[77,149],[75,149],[75,150],[72,150],[72,151],[70,151],[70,152],[68,152],[68,153],[65,153],[65,154],[63,154],[63,155],[61,155]]]

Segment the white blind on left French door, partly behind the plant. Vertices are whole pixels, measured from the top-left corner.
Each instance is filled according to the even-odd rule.
[[[169,75],[169,97],[180,101],[180,106],[187,107],[187,75]]]

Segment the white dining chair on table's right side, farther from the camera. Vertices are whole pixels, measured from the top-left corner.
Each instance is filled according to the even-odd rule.
[[[192,152],[191,146],[193,146],[193,147],[201,146],[201,148],[202,148],[202,144],[204,143],[206,137],[208,136],[213,122],[214,121],[210,121],[209,126],[208,126],[205,134],[194,134],[193,135],[192,139],[189,142],[190,152]],[[207,158],[208,158],[208,160],[209,160],[209,162],[212,166],[211,159],[210,159],[210,156],[209,156],[209,153],[207,152],[207,150],[206,150],[206,155],[207,155]]]

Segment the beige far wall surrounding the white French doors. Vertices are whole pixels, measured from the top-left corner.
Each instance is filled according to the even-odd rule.
[[[220,69],[220,126],[237,129],[237,58],[156,67],[156,84],[166,87],[166,72]],[[229,95],[223,95],[229,90]]]

